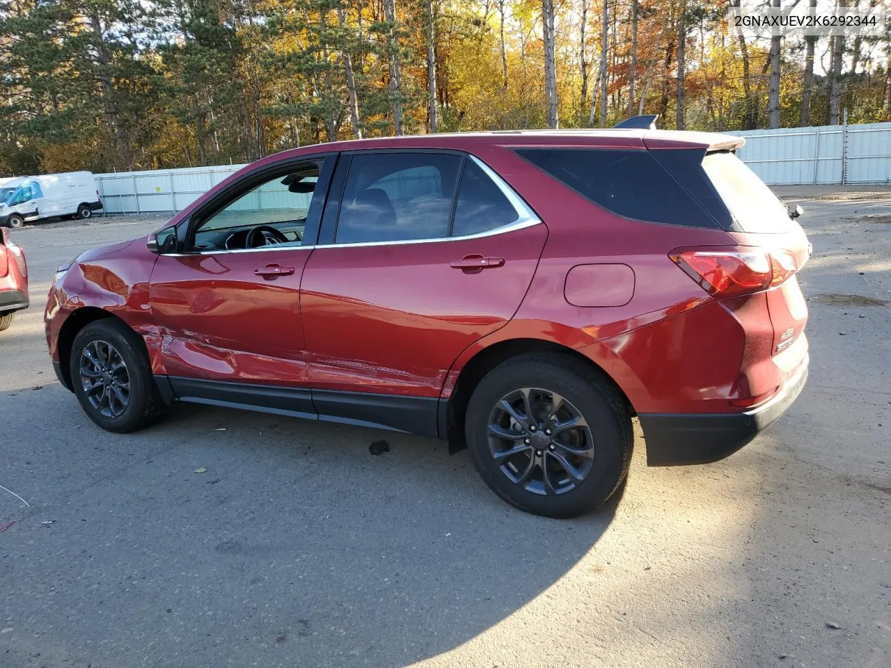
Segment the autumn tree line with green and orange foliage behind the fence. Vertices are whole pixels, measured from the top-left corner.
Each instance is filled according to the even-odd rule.
[[[713,131],[837,124],[845,111],[891,120],[887,34],[753,40],[725,12],[701,0],[0,0],[0,174],[246,162],[636,113]]]

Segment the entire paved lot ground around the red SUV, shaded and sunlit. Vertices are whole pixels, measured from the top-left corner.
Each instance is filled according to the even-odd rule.
[[[0,335],[0,666],[891,665],[891,199],[786,191],[814,256],[811,379],[721,462],[646,468],[572,521],[466,452],[184,406],[100,431],[42,309],[79,251],[163,217],[14,232],[32,307]],[[206,468],[206,473],[196,469]]]

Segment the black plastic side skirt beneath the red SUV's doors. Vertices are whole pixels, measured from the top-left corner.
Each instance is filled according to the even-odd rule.
[[[438,400],[435,398],[310,390],[177,376],[155,376],[155,382],[165,400],[339,422],[418,436],[438,436]]]

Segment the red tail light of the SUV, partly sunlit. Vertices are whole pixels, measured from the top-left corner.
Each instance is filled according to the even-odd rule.
[[[798,269],[792,253],[775,248],[679,248],[668,257],[719,298],[774,288]]]

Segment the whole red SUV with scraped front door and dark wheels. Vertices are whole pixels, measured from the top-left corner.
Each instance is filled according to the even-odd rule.
[[[805,384],[805,233],[734,152],[652,130],[436,134],[262,159],[60,267],[46,338],[102,428],[174,401],[466,445],[573,516],[719,460]]]

